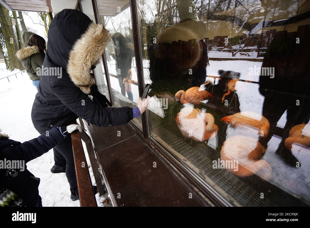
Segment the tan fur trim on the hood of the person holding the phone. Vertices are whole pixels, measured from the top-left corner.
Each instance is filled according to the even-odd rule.
[[[111,40],[111,34],[102,24],[92,22],[86,32],[73,45],[69,54],[67,73],[84,93],[91,92],[91,67],[100,62],[100,56]]]

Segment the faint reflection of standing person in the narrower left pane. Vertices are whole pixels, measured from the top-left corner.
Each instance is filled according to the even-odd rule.
[[[112,40],[115,46],[115,53],[112,53],[112,57],[115,59],[116,76],[121,87],[122,95],[125,96],[125,92],[127,92],[128,98],[133,100],[131,90],[127,89],[126,91],[125,83],[123,83],[124,78],[131,79],[129,70],[131,69],[133,46],[121,33],[114,33]],[[129,86],[127,87],[129,88]]]

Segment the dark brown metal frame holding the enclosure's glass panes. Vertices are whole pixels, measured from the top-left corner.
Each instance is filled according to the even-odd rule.
[[[95,14],[96,23],[99,23],[99,13],[97,7],[97,1],[92,0],[93,10]],[[138,89],[139,89],[139,96],[142,96],[144,91],[144,76],[143,76],[143,63],[142,63],[142,52],[141,52],[141,45],[140,45],[140,30],[139,30],[139,14],[138,14],[138,2],[136,0],[130,0],[130,11],[131,11],[131,23],[132,23],[132,32],[133,32],[133,40],[134,40],[134,48],[135,48],[135,61],[136,61],[136,69],[137,69],[137,78],[138,78]],[[105,52],[102,55],[103,58],[103,65],[104,65],[104,72],[108,86],[108,92],[110,96],[111,103],[113,102],[113,94],[111,89],[111,83],[109,79],[108,73],[108,65],[106,62]],[[113,104],[113,103],[112,103]],[[206,201],[210,202],[210,204],[214,206],[233,206],[229,203],[222,195],[216,192],[214,188],[208,185],[201,177],[199,177],[196,173],[194,173],[189,167],[184,165],[183,163],[179,162],[179,159],[168,150],[166,150],[159,142],[157,142],[150,134],[149,129],[149,117],[148,112],[144,112],[141,116],[142,118],[142,132],[141,128],[130,121],[128,124],[135,129],[135,131],[144,139],[144,141],[153,148],[160,156],[170,163],[170,165],[174,166],[180,176],[185,178],[184,180],[187,181],[192,187],[199,191],[203,198]]]

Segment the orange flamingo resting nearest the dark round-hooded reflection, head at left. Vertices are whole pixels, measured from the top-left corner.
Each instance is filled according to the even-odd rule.
[[[207,85],[209,84],[210,81],[206,82],[204,84]],[[212,94],[207,92],[206,90],[201,90],[199,91],[200,87],[191,87],[188,90],[186,90],[186,92],[184,92],[184,90],[179,90],[176,94],[175,94],[175,98],[176,100],[180,101],[183,105],[186,103],[191,103],[193,105],[199,105],[200,101],[206,100],[209,97],[212,97]]]

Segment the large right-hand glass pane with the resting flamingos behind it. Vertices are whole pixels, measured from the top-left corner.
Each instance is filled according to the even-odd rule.
[[[303,3],[138,1],[151,136],[233,205],[310,205]]]

